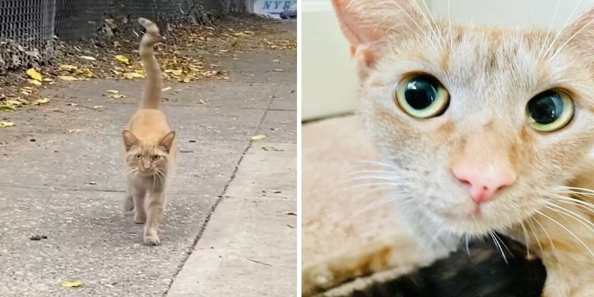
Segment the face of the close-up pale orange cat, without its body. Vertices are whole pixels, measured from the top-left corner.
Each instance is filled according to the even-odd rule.
[[[390,24],[369,7],[350,19],[381,24],[353,34],[364,40],[353,53],[362,113],[393,166],[399,205],[460,234],[529,218],[592,144],[591,33],[582,29],[594,13],[557,34],[434,22],[405,2],[391,2]]]

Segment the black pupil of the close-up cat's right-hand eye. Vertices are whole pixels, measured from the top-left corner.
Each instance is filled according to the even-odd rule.
[[[557,121],[563,113],[563,107],[563,99],[555,91],[545,91],[528,102],[530,116],[542,125]]]

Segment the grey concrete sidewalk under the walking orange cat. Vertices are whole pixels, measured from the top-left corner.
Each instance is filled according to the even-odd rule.
[[[160,247],[121,212],[120,135],[143,81],[78,81],[45,91],[46,108],[0,114],[17,124],[0,130],[0,296],[296,292],[295,53],[216,62],[230,81],[166,83],[181,164]]]

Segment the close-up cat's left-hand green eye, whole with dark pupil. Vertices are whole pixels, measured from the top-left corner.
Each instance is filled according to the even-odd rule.
[[[450,94],[437,78],[421,74],[400,81],[394,100],[409,115],[427,119],[445,112]]]

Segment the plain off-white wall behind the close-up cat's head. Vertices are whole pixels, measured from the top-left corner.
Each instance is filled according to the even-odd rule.
[[[447,17],[448,0],[425,1],[432,14]],[[558,3],[559,0],[450,0],[450,14],[453,20],[478,24],[532,24],[548,28]],[[302,0],[301,4],[302,118],[352,111],[356,106],[355,67],[330,0]],[[573,15],[576,18],[592,5],[594,0],[561,0],[554,28],[563,26],[574,8],[577,7]]]

